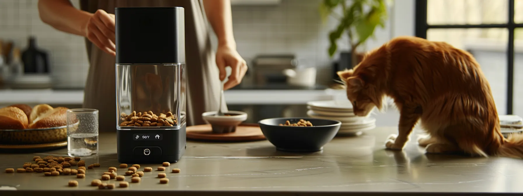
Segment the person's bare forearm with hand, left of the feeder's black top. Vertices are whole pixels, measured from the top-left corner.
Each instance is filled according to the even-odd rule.
[[[76,9],[69,0],[40,0],[38,11],[44,23],[86,37],[104,52],[116,55],[114,15],[101,9],[88,13]]]

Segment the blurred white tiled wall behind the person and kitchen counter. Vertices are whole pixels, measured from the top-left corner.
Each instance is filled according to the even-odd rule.
[[[321,21],[318,12],[321,2],[283,0],[274,6],[233,6],[238,52],[248,62],[257,54],[293,53],[319,69],[318,82],[330,82],[332,59],[327,54],[328,32],[336,27],[337,21],[332,18],[325,23]],[[72,3],[79,7],[78,0]],[[49,52],[53,76],[59,86],[84,86],[88,71],[84,38],[44,24],[38,15],[37,0],[0,1],[0,29],[0,39],[12,40],[22,50],[27,47],[28,36],[36,36],[38,47]],[[377,29],[376,39],[369,40],[364,49],[378,47],[389,40],[390,31],[390,28]],[[214,36],[211,40],[215,45]],[[346,39],[339,41],[342,50],[348,48],[344,41]]]

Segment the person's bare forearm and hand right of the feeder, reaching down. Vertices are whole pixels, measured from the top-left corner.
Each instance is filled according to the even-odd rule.
[[[242,82],[247,72],[247,64],[236,51],[236,41],[232,32],[232,11],[230,0],[203,0],[207,20],[218,37],[216,65],[220,70],[220,80],[226,77],[225,67],[232,68],[224,89],[230,89]]]

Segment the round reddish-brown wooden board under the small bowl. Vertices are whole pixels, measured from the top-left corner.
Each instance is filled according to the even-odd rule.
[[[210,124],[187,126],[187,139],[217,142],[248,142],[265,140],[256,123],[242,123],[232,133],[213,133]]]

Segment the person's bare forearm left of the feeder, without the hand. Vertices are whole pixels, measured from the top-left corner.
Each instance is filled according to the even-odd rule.
[[[85,25],[93,14],[78,10],[69,0],[38,1],[40,19],[60,31],[87,37]]]

